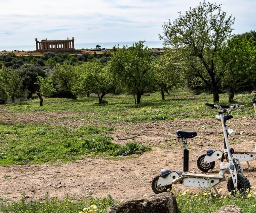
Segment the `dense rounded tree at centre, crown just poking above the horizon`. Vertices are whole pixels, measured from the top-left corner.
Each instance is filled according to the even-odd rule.
[[[134,43],[131,48],[117,48],[109,61],[109,69],[125,92],[134,96],[140,104],[146,87],[154,83],[151,69],[151,50],[144,47],[144,41]]]

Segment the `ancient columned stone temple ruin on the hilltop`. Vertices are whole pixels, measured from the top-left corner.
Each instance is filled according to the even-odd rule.
[[[74,40],[72,39],[67,40],[41,40],[38,41],[37,38],[35,39],[36,50],[37,51],[72,51],[75,50]]]

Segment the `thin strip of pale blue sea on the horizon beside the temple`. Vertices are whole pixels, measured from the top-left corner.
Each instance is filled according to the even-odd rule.
[[[96,45],[100,45],[102,48],[111,49],[113,46],[117,46],[119,44],[119,47],[122,46],[132,46],[134,42],[133,41],[127,41],[127,42],[98,42],[98,43],[76,43],[75,42],[75,49],[91,49],[96,48]],[[148,46],[149,48],[163,48],[163,42],[162,41],[145,41],[145,46]],[[13,50],[25,50],[25,51],[33,51],[35,50],[35,45],[20,45],[20,46],[0,46],[0,51],[13,51]]]

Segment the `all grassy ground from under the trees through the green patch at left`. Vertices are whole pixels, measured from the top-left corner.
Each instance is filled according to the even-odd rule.
[[[233,112],[244,116],[254,113],[250,94],[239,94],[236,103],[246,107]],[[107,95],[108,104],[97,104],[97,97],[78,100],[48,98],[39,107],[38,99],[1,105],[0,165],[37,164],[73,161],[84,155],[123,155],[141,153],[149,147],[134,143],[119,145],[108,135],[116,122],[162,121],[201,118],[215,115],[204,105],[212,95],[193,95],[180,90],[160,99],[159,93],[143,96],[142,104],[133,104],[131,95]],[[221,104],[227,104],[221,94]],[[91,122],[81,126],[79,122]],[[73,123],[78,123],[73,125]],[[122,125],[121,125],[122,126]]]

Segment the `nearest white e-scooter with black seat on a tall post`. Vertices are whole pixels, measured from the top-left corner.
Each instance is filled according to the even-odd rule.
[[[224,163],[224,153],[221,155],[220,171],[217,175],[204,175],[197,173],[188,173],[189,171],[189,150],[188,150],[188,138],[194,138],[197,133],[189,131],[177,130],[177,138],[182,139],[184,144],[183,150],[183,171],[174,171],[169,169],[162,169],[161,174],[154,177],[151,183],[152,190],[154,193],[163,193],[168,189],[172,189],[172,184],[183,183],[185,186],[195,187],[213,187],[215,191],[215,185],[221,181],[225,181],[225,172],[227,169],[230,170],[231,177],[227,181],[227,189],[231,193],[246,193],[250,190],[250,182],[243,175],[243,170],[238,159],[235,159],[230,151],[229,142],[227,138],[227,131],[224,126],[224,114],[227,112],[221,106],[214,105],[214,107],[221,109],[219,116],[221,119],[223,134],[225,138],[225,144],[227,147],[227,164]],[[238,171],[241,171],[239,174]]]

